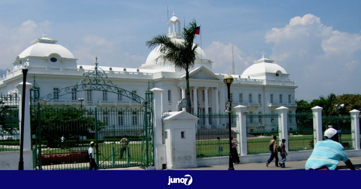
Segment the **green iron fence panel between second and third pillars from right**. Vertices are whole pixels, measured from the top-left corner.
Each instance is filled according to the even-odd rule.
[[[313,113],[288,113],[287,124],[289,151],[313,149]]]

